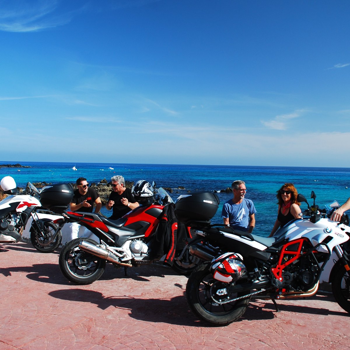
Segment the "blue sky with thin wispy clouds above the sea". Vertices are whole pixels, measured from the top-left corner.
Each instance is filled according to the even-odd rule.
[[[350,167],[349,13],[0,0],[0,159]]]

